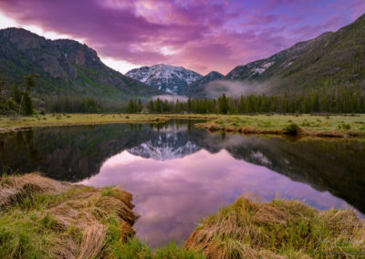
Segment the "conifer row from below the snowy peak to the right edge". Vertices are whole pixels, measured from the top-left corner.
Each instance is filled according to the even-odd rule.
[[[360,89],[323,88],[306,93],[285,93],[268,96],[248,95],[241,97],[188,98],[169,101],[151,99],[147,104],[130,99],[125,112],[128,113],[365,113],[365,96]]]

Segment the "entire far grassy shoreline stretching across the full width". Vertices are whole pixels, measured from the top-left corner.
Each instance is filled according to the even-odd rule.
[[[112,123],[162,123],[170,119],[202,119],[194,126],[212,132],[318,138],[363,138],[365,115],[216,115],[216,114],[47,114],[0,118],[0,133],[38,127]],[[287,130],[291,124],[297,131]]]

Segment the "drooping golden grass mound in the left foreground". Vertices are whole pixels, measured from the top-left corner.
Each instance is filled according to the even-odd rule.
[[[118,188],[97,189],[54,181],[38,173],[3,177],[0,182],[0,257],[109,257],[106,236],[110,220],[120,226],[120,242],[134,235],[138,215],[131,195]],[[11,217],[11,237],[6,237]],[[17,222],[19,221],[19,222]],[[25,225],[23,224],[26,223]],[[4,234],[3,234],[4,233]],[[34,251],[26,251],[38,242]],[[43,240],[43,236],[47,239]],[[19,242],[19,240],[21,242]]]

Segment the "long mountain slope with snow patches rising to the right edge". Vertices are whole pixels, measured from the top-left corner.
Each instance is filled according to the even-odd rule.
[[[365,15],[270,57],[237,66],[227,80],[269,82],[269,93],[314,88],[359,88],[365,83]]]

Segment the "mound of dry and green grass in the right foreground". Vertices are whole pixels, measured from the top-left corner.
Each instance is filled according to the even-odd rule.
[[[241,197],[203,220],[185,249],[201,249],[208,258],[360,258],[365,224],[352,211]]]

